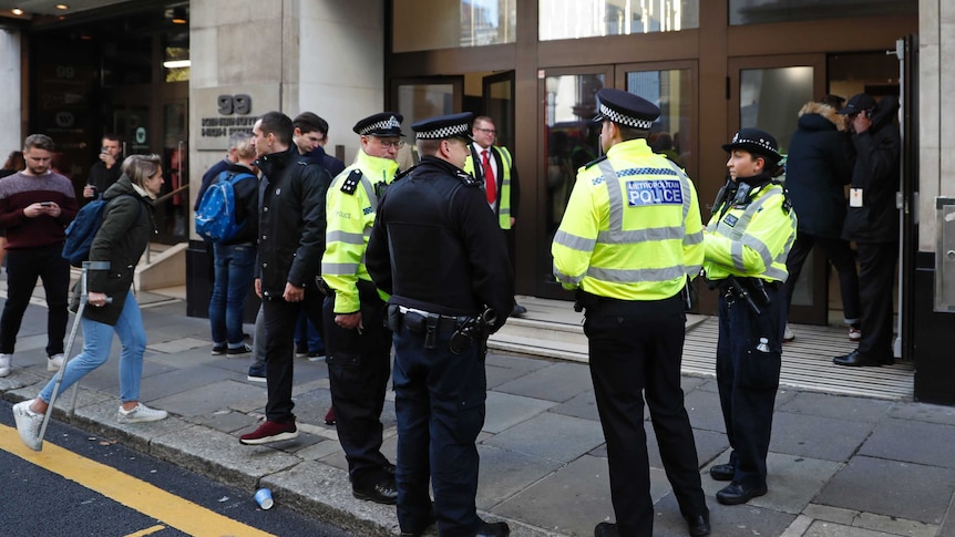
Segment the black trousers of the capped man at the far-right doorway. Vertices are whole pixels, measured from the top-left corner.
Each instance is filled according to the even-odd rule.
[[[862,301],[863,360],[889,361],[892,351],[892,290],[895,283],[897,242],[859,242],[859,295]]]

